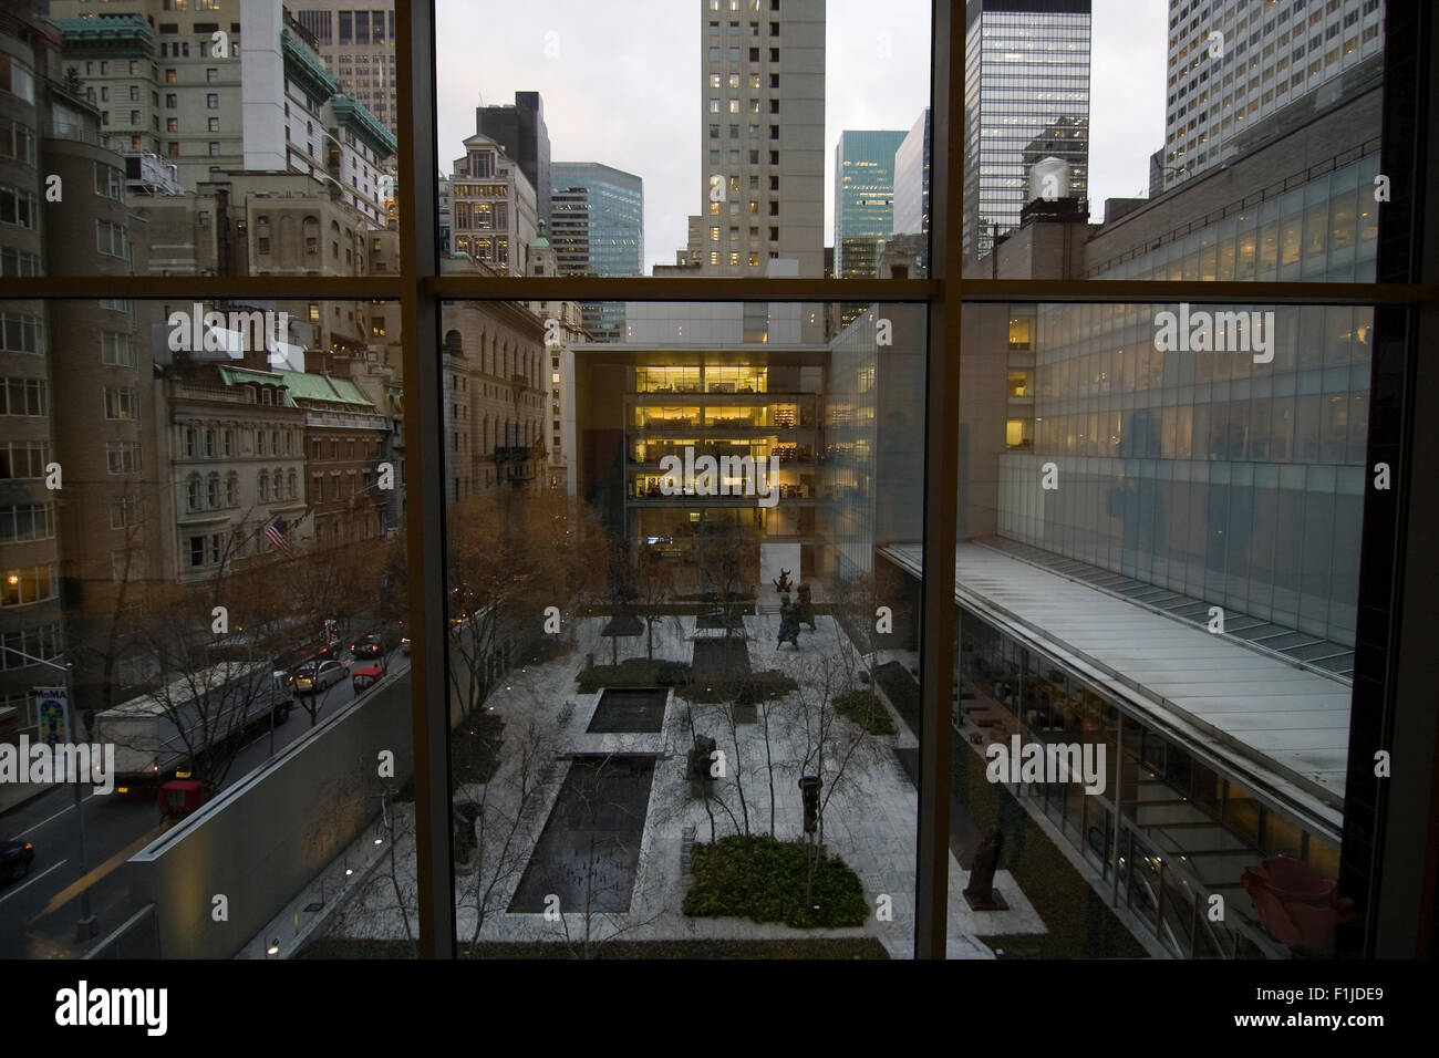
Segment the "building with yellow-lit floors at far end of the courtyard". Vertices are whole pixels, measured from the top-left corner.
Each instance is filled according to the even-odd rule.
[[[629,305],[625,341],[570,350],[577,494],[623,540],[672,557],[681,582],[701,583],[707,544],[721,538],[754,546],[747,587],[771,550],[796,580],[826,566],[827,348],[799,341],[797,307],[770,309],[747,320],[745,305]],[[669,458],[725,461],[720,485],[673,479]]]

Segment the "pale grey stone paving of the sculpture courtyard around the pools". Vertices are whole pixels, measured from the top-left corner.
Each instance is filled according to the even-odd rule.
[[[586,654],[593,652],[599,664],[610,659],[610,642],[599,635],[603,619],[581,619],[574,629],[576,649],[568,655],[541,665],[518,669],[507,678],[485,708],[505,721],[501,764],[494,777],[481,786],[456,792],[456,802],[473,800],[485,808],[485,822],[479,833],[478,865],[456,878],[458,936],[460,944],[481,941],[553,940],[602,943],[609,937],[625,940],[771,940],[784,937],[862,937],[878,939],[891,957],[908,959],[914,946],[914,884],[917,795],[905,774],[895,746],[912,746],[914,738],[895,717],[899,736],[863,736],[850,749],[850,721],[819,710],[820,692],[827,685],[839,692],[852,679],[861,659],[837,623],[819,616],[817,630],[804,629],[800,649],[786,645],[776,649],[778,615],[747,616],[744,620],[750,664],[754,671],[778,669],[800,684],[800,689],[781,700],[757,707],[754,723],[731,724],[727,707],[694,704],[671,692],[663,714],[662,730],[590,731],[600,694],[577,694],[576,674],[583,668]],[[695,618],[666,618],[655,626],[655,659],[689,662],[696,635]],[[701,638],[717,635],[701,630]],[[722,635],[722,632],[718,632]],[[646,656],[645,638],[622,639],[620,659]],[[768,747],[764,720],[768,718]],[[689,885],[684,874],[686,832],[694,841],[708,842],[711,819],[705,802],[691,797],[684,769],[686,751],[692,746],[692,731],[717,740],[725,754],[725,777],[717,782],[717,797],[728,808],[714,808],[714,833],[725,836],[743,829],[748,813],[750,831],[766,833],[770,818],[770,767],[774,774],[773,831],[780,839],[803,833],[803,808],[797,780],[802,770],[816,767],[816,730],[819,723],[833,724],[836,738],[826,740],[826,760],[822,774],[826,793],[825,844],[839,854],[859,875],[871,908],[886,901],[892,918],[881,920],[872,911],[863,927],[796,930],[776,923],[753,923],[747,918],[689,918],[681,913],[681,901]],[[603,724],[602,724],[603,725]],[[835,746],[848,753],[843,774],[835,783],[837,760]],[[578,900],[576,880],[558,877],[551,887],[531,871],[527,890],[554,892],[560,897],[558,913],[509,913],[531,865],[532,852],[545,828],[555,799],[576,756],[603,757],[607,754],[649,754],[655,757],[653,787],[649,792],[648,813],[639,836],[639,849],[622,849],[625,859],[635,861],[633,891],[629,911],[600,910],[610,900],[590,901],[586,911]],[[807,764],[806,764],[806,759]],[[744,806],[740,786],[744,789]],[[833,785],[833,790],[829,787]],[[731,813],[738,823],[731,819]],[[404,921],[399,914],[399,894],[414,913],[414,848],[413,806],[394,806],[394,878],[389,877],[389,861],[381,858],[377,872],[367,885],[353,887],[350,904],[330,927],[331,936],[403,939]],[[360,844],[371,845],[367,835]],[[599,859],[584,858],[570,864],[571,874],[583,877],[587,867]],[[541,871],[543,872],[543,871]],[[610,888],[616,885],[610,878]],[[950,915],[948,954],[963,959],[991,959],[977,934],[1043,933],[1029,900],[1007,871],[999,871],[994,885],[1009,903],[1007,911],[974,913],[961,890],[968,884],[968,872],[950,855]],[[561,895],[568,894],[568,897]],[[566,905],[566,900],[571,905]],[[525,905],[532,903],[525,901]],[[484,926],[476,933],[484,908]]]

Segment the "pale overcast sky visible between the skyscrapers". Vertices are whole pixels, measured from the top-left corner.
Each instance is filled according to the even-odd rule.
[[[439,170],[475,131],[475,107],[544,98],[553,161],[600,161],[645,180],[645,263],[673,263],[699,212],[701,14],[695,0],[437,0]],[[1094,0],[1089,199],[1143,196],[1164,143],[1164,0]],[[908,130],[930,102],[928,0],[829,0],[825,242],[835,144],[846,128]],[[888,52],[885,50],[888,46]],[[885,58],[888,55],[888,58]]]

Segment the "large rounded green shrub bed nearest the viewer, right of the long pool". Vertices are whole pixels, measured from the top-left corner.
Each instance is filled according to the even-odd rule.
[[[694,918],[748,918],[802,930],[863,926],[869,904],[859,875],[823,846],[806,907],[809,855],[804,841],[781,842],[767,833],[695,845],[695,880],[681,907]]]

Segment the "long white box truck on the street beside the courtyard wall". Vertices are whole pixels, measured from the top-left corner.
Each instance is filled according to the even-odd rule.
[[[272,665],[226,661],[95,714],[94,740],[115,746],[115,789],[190,774],[194,757],[250,728],[289,718],[291,691]]]

